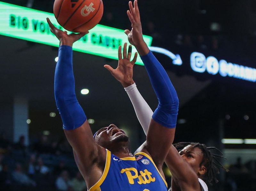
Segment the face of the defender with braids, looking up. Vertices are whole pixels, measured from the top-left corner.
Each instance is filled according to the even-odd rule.
[[[202,173],[202,168],[204,168],[204,166],[200,166],[200,164],[203,160],[204,155],[201,149],[199,149],[198,147],[193,148],[191,145],[188,145],[180,151],[180,156],[189,163],[189,165],[193,168],[197,175],[200,175],[200,173]]]

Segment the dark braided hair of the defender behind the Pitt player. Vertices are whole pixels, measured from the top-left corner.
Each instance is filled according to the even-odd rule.
[[[189,142],[181,142],[173,144],[174,147],[180,152],[184,147],[191,145],[192,148],[199,148],[203,153],[203,159],[200,163],[200,166],[204,165],[206,168],[206,173],[204,174],[204,180],[211,184],[212,180],[215,182],[218,182],[216,178],[216,173],[219,174],[219,169],[222,168],[226,172],[228,172],[228,169],[226,169],[221,162],[219,161],[223,157],[223,153],[215,148],[215,147],[206,147],[205,144],[200,143],[189,143]],[[219,154],[214,154],[213,152],[217,151]],[[225,158],[227,159],[227,158]]]

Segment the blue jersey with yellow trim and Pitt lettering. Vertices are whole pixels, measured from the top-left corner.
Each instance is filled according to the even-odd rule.
[[[107,149],[106,149],[107,150]],[[100,180],[89,191],[167,191],[167,183],[148,154],[118,158],[107,150]]]

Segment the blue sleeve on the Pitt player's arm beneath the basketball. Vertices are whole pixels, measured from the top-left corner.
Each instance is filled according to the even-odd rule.
[[[62,45],[59,48],[59,60],[54,77],[54,95],[63,129],[71,130],[83,125],[86,116],[76,99],[72,47],[70,46]]]

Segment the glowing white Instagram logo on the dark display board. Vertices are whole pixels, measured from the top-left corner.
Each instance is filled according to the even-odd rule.
[[[193,52],[190,56],[191,68],[196,71],[203,73],[206,70],[206,58],[202,53]]]

